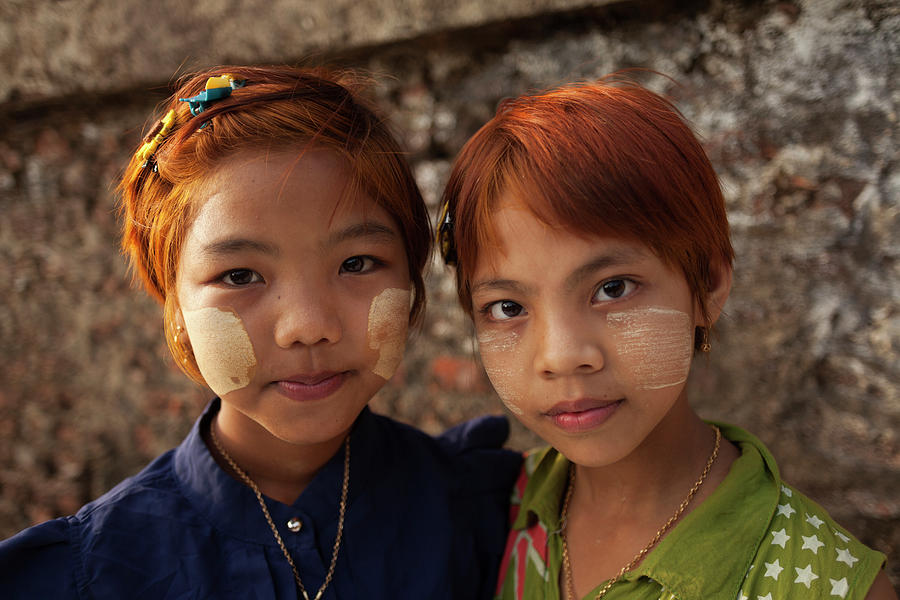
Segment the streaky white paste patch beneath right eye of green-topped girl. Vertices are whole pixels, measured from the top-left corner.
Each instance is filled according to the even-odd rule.
[[[693,325],[687,313],[649,307],[613,312],[606,323],[616,343],[623,376],[638,389],[658,390],[687,381]],[[627,374],[627,375],[626,375]]]

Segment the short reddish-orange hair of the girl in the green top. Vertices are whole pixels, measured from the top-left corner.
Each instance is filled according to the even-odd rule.
[[[459,300],[471,314],[491,215],[515,194],[549,225],[635,239],[684,273],[703,314],[713,264],[731,265],[719,180],[671,102],[607,77],[503,102],[460,152],[444,190]]]

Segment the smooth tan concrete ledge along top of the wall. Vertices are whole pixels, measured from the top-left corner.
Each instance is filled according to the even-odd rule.
[[[613,0],[4,0],[0,103],[168,81],[176,70],[283,62]]]

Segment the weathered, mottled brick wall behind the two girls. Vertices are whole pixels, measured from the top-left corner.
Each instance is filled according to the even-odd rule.
[[[103,33],[114,27],[92,20],[96,37],[88,27],[78,43],[102,41],[103,52],[68,56],[79,4],[97,3],[0,7],[20,15],[0,26],[3,70],[14,74],[0,99],[0,536],[71,513],[136,472],[178,443],[208,398],[173,368],[160,309],[130,286],[117,250],[116,174],[181,62],[313,54],[380,73],[378,97],[432,209],[453,156],[501,98],[646,67],[672,78],[648,81],[703,136],[737,250],[692,398],[704,416],[761,437],[786,479],[891,555],[900,583],[897,2],[510,2],[518,8],[430,13],[414,21],[426,26],[368,37],[352,29],[359,19],[330,22],[322,9],[316,22],[330,37],[306,46],[273,43],[277,32],[252,22],[250,33],[234,29],[227,14],[200,10],[215,2],[195,2],[184,19],[222,19],[242,45],[208,43],[188,20],[119,40],[117,53]],[[413,14],[429,5],[406,4]],[[372,22],[392,18],[370,10]],[[174,52],[175,35],[194,45]],[[170,62],[129,58],[154,56]],[[448,272],[435,263],[429,282],[424,330],[375,405],[436,432],[502,409]],[[511,443],[537,440],[516,429]]]

